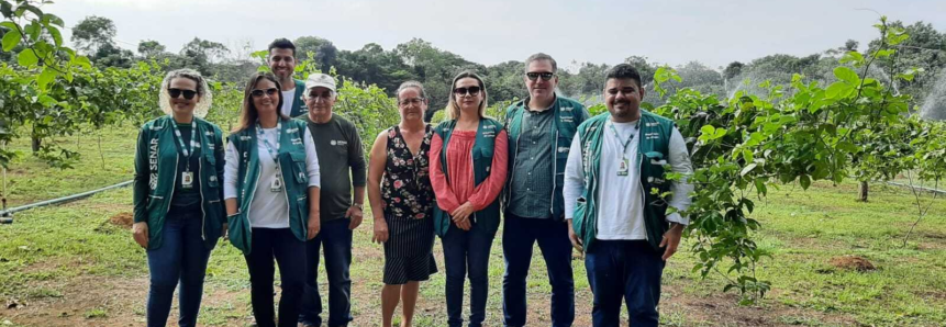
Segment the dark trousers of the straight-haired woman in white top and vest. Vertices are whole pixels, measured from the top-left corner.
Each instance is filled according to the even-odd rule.
[[[252,249],[244,256],[249,268],[249,301],[259,327],[275,327],[272,279],[279,264],[279,327],[296,327],[305,285],[305,243],[289,228],[253,228]]]

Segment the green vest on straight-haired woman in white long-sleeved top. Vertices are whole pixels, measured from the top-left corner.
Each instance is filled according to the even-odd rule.
[[[283,120],[279,131],[279,168],[282,172],[282,194],[289,204],[289,228],[296,238],[307,240],[309,226],[309,172],[305,166],[305,122]],[[249,205],[259,181],[259,154],[256,145],[256,125],[231,134],[227,140],[240,156],[236,180],[236,203],[240,214],[229,217],[230,241],[244,253],[252,248]],[[268,185],[264,185],[268,188]]]

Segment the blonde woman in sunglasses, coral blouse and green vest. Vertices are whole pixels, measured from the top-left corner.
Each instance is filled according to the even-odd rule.
[[[434,129],[431,183],[437,198],[434,227],[444,245],[447,324],[463,325],[464,279],[469,269],[469,326],[481,326],[489,293],[489,251],[499,228],[499,192],[507,174],[502,124],[483,116],[482,79],[465,71],[453,82],[449,121]]]

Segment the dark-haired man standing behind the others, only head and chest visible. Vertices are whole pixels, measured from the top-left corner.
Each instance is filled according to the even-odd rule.
[[[267,63],[282,87],[282,108],[279,111],[289,117],[304,115],[305,103],[302,102],[302,92],[305,90],[305,83],[292,78],[296,74],[296,45],[289,40],[277,38],[269,44]]]

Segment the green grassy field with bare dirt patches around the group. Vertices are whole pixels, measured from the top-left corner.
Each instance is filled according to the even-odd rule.
[[[25,142],[18,143],[14,148],[25,156],[8,176],[8,196],[23,204],[129,180],[135,135],[132,127],[103,132],[104,169],[96,135],[79,139],[85,157],[73,170],[48,169],[29,156]],[[75,138],[64,142],[76,148]],[[770,191],[757,204],[755,216],[764,226],[756,239],[772,253],[763,261],[759,278],[771,281],[772,291],[757,305],[738,306],[736,294],[721,292],[722,277],[702,280],[691,273],[695,258],[685,249],[665,270],[664,325],[946,325],[946,202],[933,202],[904,247],[903,236],[916,219],[912,194],[880,184],[871,191],[869,203],[854,201],[856,183]],[[121,226],[131,210],[131,189],[125,188],[22,212],[14,224],[0,225],[0,303],[4,304],[0,326],[144,325],[145,255]],[[370,243],[370,230],[366,222],[355,233],[352,326],[380,322],[383,253]],[[488,326],[502,325],[500,243],[497,237],[490,261]],[[443,270],[439,244],[435,249]],[[858,263],[848,256],[862,258],[876,269],[846,268]],[[545,267],[535,258],[528,281],[528,325],[547,326],[550,289]],[[575,326],[590,326],[591,292],[577,253],[572,266]],[[322,273],[323,290],[324,282]],[[208,269],[201,325],[251,324],[248,286],[240,253],[230,245],[218,246]],[[443,290],[443,271],[422,284],[415,326],[445,325]]]

